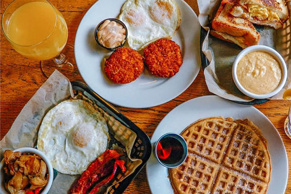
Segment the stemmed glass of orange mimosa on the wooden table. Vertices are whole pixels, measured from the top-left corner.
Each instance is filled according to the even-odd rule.
[[[47,77],[54,69],[67,72],[67,68],[73,68],[65,55],[60,54],[68,38],[65,19],[48,0],[14,0],[3,13],[1,27],[18,53],[42,61]],[[51,58],[54,58],[53,68],[52,65],[46,68],[43,62]]]

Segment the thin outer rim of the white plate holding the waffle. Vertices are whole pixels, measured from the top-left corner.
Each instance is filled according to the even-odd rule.
[[[216,98],[220,98],[220,99],[222,99],[222,100],[224,100],[224,101],[228,101],[228,102],[230,102],[230,103],[234,103],[234,104],[236,104],[236,105],[238,105],[238,106],[251,107],[251,108],[254,109],[255,111],[259,111],[259,109],[257,109],[257,108],[254,107],[254,106],[251,106],[251,105],[242,105],[242,104],[237,104],[237,103],[235,103],[235,102],[232,102],[231,100],[227,100],[227,99],[225,99],[225,98],[223,98],[223,97],[219,97],[219,96],[217,96],[217,95],[207,95],[207,96],[194,97],[194,98],[192,98],[192,99],[189,99],[189,100],[184,101],[183,103],[179,104],[177,107],[173,108],[170,112],[168,112],[168,113],[167,113],[167,114],[162,118],[162,120],[160,121],[160,123],[158,124],[158,126],[156,127],[156,129],[154,130],[154,132],[153,132],[153,134],[152,134],[152,136],[151,136],[151,138],[150,138],[150,140],[151,140],[151,144],[153,145],[152,138],[153,138],[153,136],[154,136],[156,130],[158,129],[158,127],[161,125],[162,121],[165,119],[165,117],[166,117],[168,114],[170,114],[171,112],[173,112],[175,109],[178,109],[178,107],[179,107],[180,105],[184,104],[184,103],[187,103],[187,102],[190,102],[190,101],[194,101],[194,100],[196,100],[197,98],[208,98],[208,97],[216,97]],[[259,113],[261,113],[260,115],[263,116],[265,119],[267,119],[267,121],[269,122],[269,124],[271,124],[272,128],[275,129],[275,131],[276,131],[275,134],[278,135],[278,137],[279,137],[279,139],[280,139],[280,141],[281,141],[281,143],[282,143],[282,145],[283,145],[283,147],[284,147],[284,156],[286,157],[286,162],[287,162],[287,178],[286,178],[286,180],[285,180],[284,191],[283,191],[283,193],[282,193],[282,194],[284,194],[284,193],[286,192],[286,188],[287,188],[287,184],[288,184],[288,178],[289,178],[289,160],[288,160],[287,150],[286,150],[285,144],[284,144],[284,142],[283,142],[283,139],[282,139],[280,133],[278,132],[278,130],[275,128],[274,124],[270,121],[270,119],[269,119],[265,114],[263,114],[263,113],[260,112],[260,111],[259,111]],[[194,122],[195,122],[195,121],[194,121]],[[184,129],[183,129],[183,130],[184,130]],[[181,131],[181,132],[182,132],[182,131]],[[152,154],[151,154],[151,157],[152,157]],[[271,154],[270,154],[270,158],[271,158]],[[273,160],[274,160],[274,159],[273,159]],[[272,158],[271,158],[271,161],[272,161]],[[150,186],[150,182],[149,182],[149,175],[148,175],[148,165],[149,165],[149,162],[150,162],[150,159],[149,159],[149,161],[146,163],[146,179],[147,179],[147,184],[148,184],[148,186],[149,186],[150,192],[151,192],[152,194],[154,194],[154,192],[153,192],[153,190],[152,190],[152,188],[151,188],[151,186]],[[272,168],[272,171],[273,171],[273,170],[274,170],[274,168]],[[272,180],[272,177],[271,177],[271,180]],[[270,180],[270,182],[271,182],[271,180]],[[171,184],[171,183],[170,183],[170,184]],[[268,185],[268,190],[269,190],[269,188],[270,188],[269,186],[270,186],[270,185]],[[172,189],[173,189],[173,188],[172,188]],[[268,192],[268,190],[267,190],[267,192]],[[173,193],[175,194],[174,189],[173,189]]]

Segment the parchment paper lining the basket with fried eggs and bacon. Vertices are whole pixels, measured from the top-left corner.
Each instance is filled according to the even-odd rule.
[[[1,160],[6,149],[19,147],[34,147],[37,143],[37,133],[44,115],[58,103],[69,99],[83,99],[90,102],[94,108],[101,113],[107,122],[108,129],[114,138],[125,148],[128,155],[126,162],[127,171],[115,175],[113,184],[117,184],[128,177],[142,163],[140,159],[130,158],[130,151],[136,139],[136,134],[122,125],[108,113],[104,112],[92,100],[81,94],[74,96],[70,81],[59,71],[55,70],[49,79],[37,90],[33,97],[23,107],[14,121],[11,129],[0,142]],[[54,179],[49,194],[65,194],[73,181],[79,176],[65,175],[58,172]],[[3,181],[2,178],[1,181]],[[106,193],[112,185],[108,186]]]

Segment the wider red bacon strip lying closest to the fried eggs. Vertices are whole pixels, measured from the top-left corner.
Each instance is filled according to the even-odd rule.
[[[120,154],[113,149],[107,149],[95,161],[93,161],[85,170],[80,178],[78,178],[69,194],[85,194],[91,185],[97,182],[100,178],[108,175],[113,169],[114,160],[117,160]]]

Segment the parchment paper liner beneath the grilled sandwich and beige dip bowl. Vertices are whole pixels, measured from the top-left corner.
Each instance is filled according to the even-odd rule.
[[[204,70],[205,80],[210,92],[220,97],[236,101],[251,101],[235,86],[232,80],[232,64],[242,50],[233,43],[228,43],[209,36],[209,24],[215,16],[221,0],[197,0],[199,8],[200,25],[208,31],[202,45],[202,51],[206,55],[210,65]],[[289,12],[291,2],[288,2]],[[282,29],[259,27],[259,45],[275,48],[285,59],[288,67],[288,79],[284,88],[270,99],[283,99],[283,93],[291,88],[291,18],[284,24]]]

